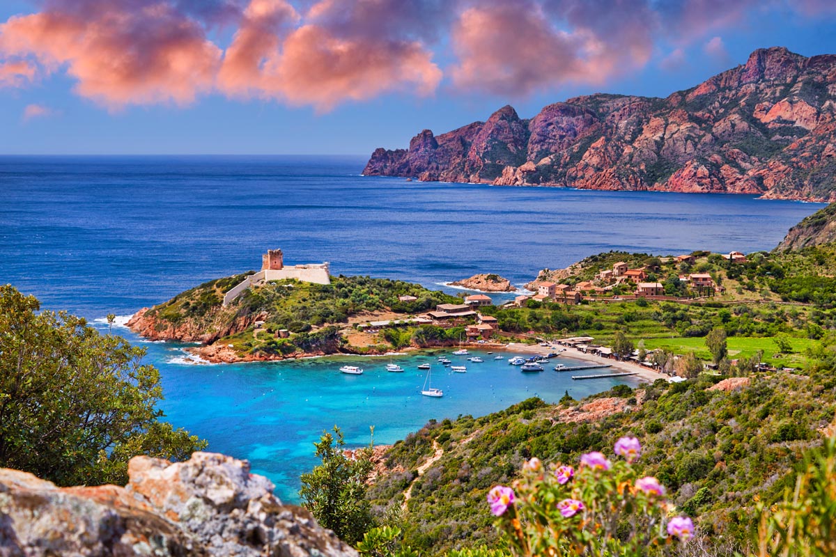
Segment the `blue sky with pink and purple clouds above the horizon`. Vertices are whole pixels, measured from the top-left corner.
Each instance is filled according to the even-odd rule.
[[[0,0],[0,154],[367,155],[772,46],[836,0]]]

